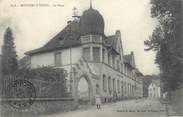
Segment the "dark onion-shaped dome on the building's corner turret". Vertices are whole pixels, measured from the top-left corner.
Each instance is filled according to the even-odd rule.
[[[92,7],[84,11],[80,19],[81,34],[104,34],[104,19],[102,15]]]

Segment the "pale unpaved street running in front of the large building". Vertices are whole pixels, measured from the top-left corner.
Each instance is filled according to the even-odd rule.
[[[124,100],[102,105],[81,107],[78,110],[46,117],[165,117],[165,106],[158,99]]]

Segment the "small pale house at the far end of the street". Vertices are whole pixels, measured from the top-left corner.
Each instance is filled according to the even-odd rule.
[[[150,98],[160,98],[160,80],[152,80],[151,84],[148,87],[148,97]]]

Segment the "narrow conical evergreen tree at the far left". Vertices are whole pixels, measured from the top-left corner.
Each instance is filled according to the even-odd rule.
[[[14,74],[18,69],[17,55],[14,44],[14,37],[11,28],[7,28],[4,34],[2,46],[2,74]]]

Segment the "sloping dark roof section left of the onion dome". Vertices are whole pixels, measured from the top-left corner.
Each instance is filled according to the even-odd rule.
[[[26,52],[27,55],[48,52],[56,49],[63,49],[71,46],[80,45],[79,22],[73,21],[68,24],[60,33],[53,37],[43,47]]]

